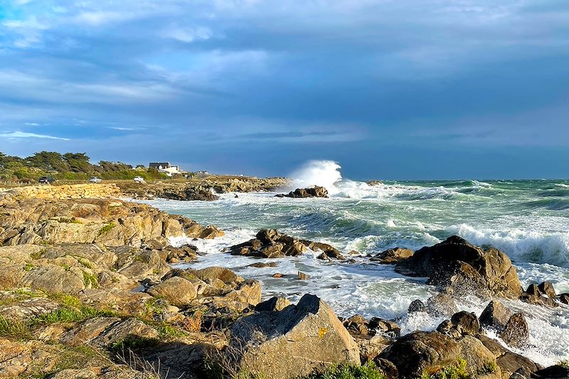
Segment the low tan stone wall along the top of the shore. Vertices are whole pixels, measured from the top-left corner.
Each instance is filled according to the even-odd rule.
[[[26,186],[11,188],[0,193],[12,200],[24,198],[43,198],[66,200],[75,198],[115,198],[121,191],[114,183],[110,184],[69,184],[62,186]]]

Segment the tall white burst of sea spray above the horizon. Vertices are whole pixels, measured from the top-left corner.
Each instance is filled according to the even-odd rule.
[[[330,195],[338,193],[336,183],[342,180],[340,165],[334,161],[309,161],[300,169],[290,174],[294,188],[321,186]]]

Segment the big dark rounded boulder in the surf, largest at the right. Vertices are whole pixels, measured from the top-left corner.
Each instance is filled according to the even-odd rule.
[[[429,284],[455,294],[517,299],[522,293],[516,269],[504,252],[494,247],[483,250],[456,235],[422,247],[413,257],[399,262],[395,271],[429,277]]]

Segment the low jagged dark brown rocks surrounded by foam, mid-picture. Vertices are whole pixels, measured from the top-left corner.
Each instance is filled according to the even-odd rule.
[[[309,240],[298,240],[273,229],[260,230],[255,238],[233,245],[228,248],[227,252],[231,255],[245,255],[246,257],[281,258],[302,255],[307,249],[321,251],[320,259],[344,259],[341,252],[331,245]]]

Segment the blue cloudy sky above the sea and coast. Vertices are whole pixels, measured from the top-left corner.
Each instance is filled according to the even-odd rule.
[[[0,0],[0,151],[569,178],[567,0]]]

